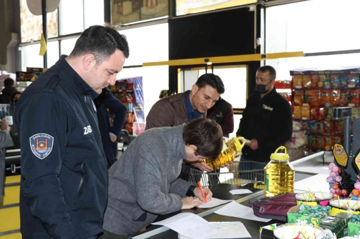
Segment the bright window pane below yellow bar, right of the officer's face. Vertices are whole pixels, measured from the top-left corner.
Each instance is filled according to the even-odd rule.
[[[116,79],[133,77],[143,77],[144,116],[146,119],[151,107],[159,100],[161,90],[169,89],[169,67],[162,65],[125,68],[117,74]]]

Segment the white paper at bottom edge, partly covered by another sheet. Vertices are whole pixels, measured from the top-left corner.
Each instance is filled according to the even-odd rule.
[[[243,223],[241,222],[221,222],[221,223],[212,223],[226,228],[223,231],[217,232],[211,236],[201,239],[231,239],[231,238],[251,238],[250,233],[246,229]],[[182,234],[178,235],[179,239],[192,239],[185,237]],[[198,238],[200,239],[200,238]]]

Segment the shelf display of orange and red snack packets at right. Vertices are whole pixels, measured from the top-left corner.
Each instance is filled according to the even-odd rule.
[[[293,119],[302,124],[309,154],[342,142],[343,121],[333,120],[332,108],[352,107],[352,118],[359,117],[359,74],[358,68],[290,71]]]

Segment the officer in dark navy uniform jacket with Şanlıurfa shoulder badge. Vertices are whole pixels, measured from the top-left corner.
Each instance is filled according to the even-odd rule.
[[[115,83],[128,55],[125,36],[91,26],[18,100],[23,238],[95,239],[103,231],[108,163],[93,99]]]

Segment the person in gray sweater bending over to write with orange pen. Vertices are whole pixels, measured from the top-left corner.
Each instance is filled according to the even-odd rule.
[[[179,178],[181,164],[183,160],[214,160],[222,146],[221,127],[204,118],[177,127],[152,128],[137,136],[108,171],[102,239],[130,238],[159,215],[203,204],[200,189]],[[211,200],[209,189],[204,194]]]

